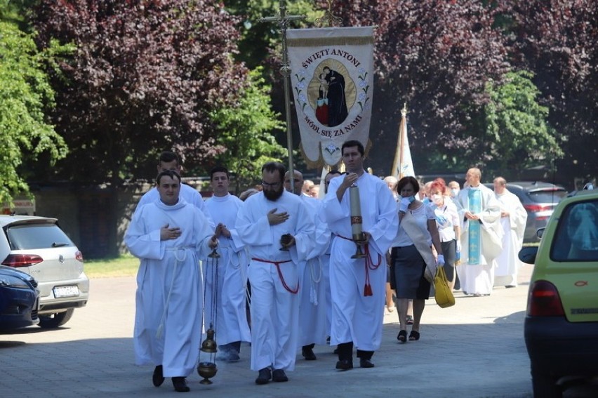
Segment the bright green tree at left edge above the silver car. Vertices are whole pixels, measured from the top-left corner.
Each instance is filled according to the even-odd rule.
[[[0,5],[2,6],[2,5]],[[6,11],[6,8],[4,8]],[[67,154],[65,141],[46,121],[54,92],[44,67],[60,47],[39,52],[33,34],[1,13],[0,20],[0,203],[27,194],[29,164],[53,165]]]

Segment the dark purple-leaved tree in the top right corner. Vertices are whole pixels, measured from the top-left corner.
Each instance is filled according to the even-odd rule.
[[[532,70],[548,117],[564,142],[559,169],[596,178],[598,171],[598,2],[505,1],[514,65]]]

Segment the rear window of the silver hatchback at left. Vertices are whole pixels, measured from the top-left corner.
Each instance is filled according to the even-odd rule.
[[[13,225],[6,230],[11,250],[74,246],[55,224]]]

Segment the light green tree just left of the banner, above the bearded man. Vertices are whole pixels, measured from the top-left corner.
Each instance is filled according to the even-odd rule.
[[[272,135],[272,131],[281,130],[284,124],[270,107],[270,86],[265,85],[261,74],[261,68],[251,71],[249,84],[241,90],[239,101],[210,115],[218,123],[215,143],[226,148],[217,160],[236,173],[237,192],[259,178],[266,161],[281,161],[286,154]]]

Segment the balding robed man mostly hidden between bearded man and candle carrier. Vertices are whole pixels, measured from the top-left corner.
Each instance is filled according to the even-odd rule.
[[[294,189],[291,190],[291,173],[284,175],[284,188],[305,203],[309,216],[314,220],[316,233],[312,237],[313,248],[307,259],[299,262],[299,336],[298,347],[307,361],[317,359],[314,346],[325,345],[328,329],[326,328],[326,281],[324,280],[321,256],[326,253],[330,244],[330,230],[326,223],[318,219],[321,201],[302,194],[303,173],[295,170],[293,174]]]

